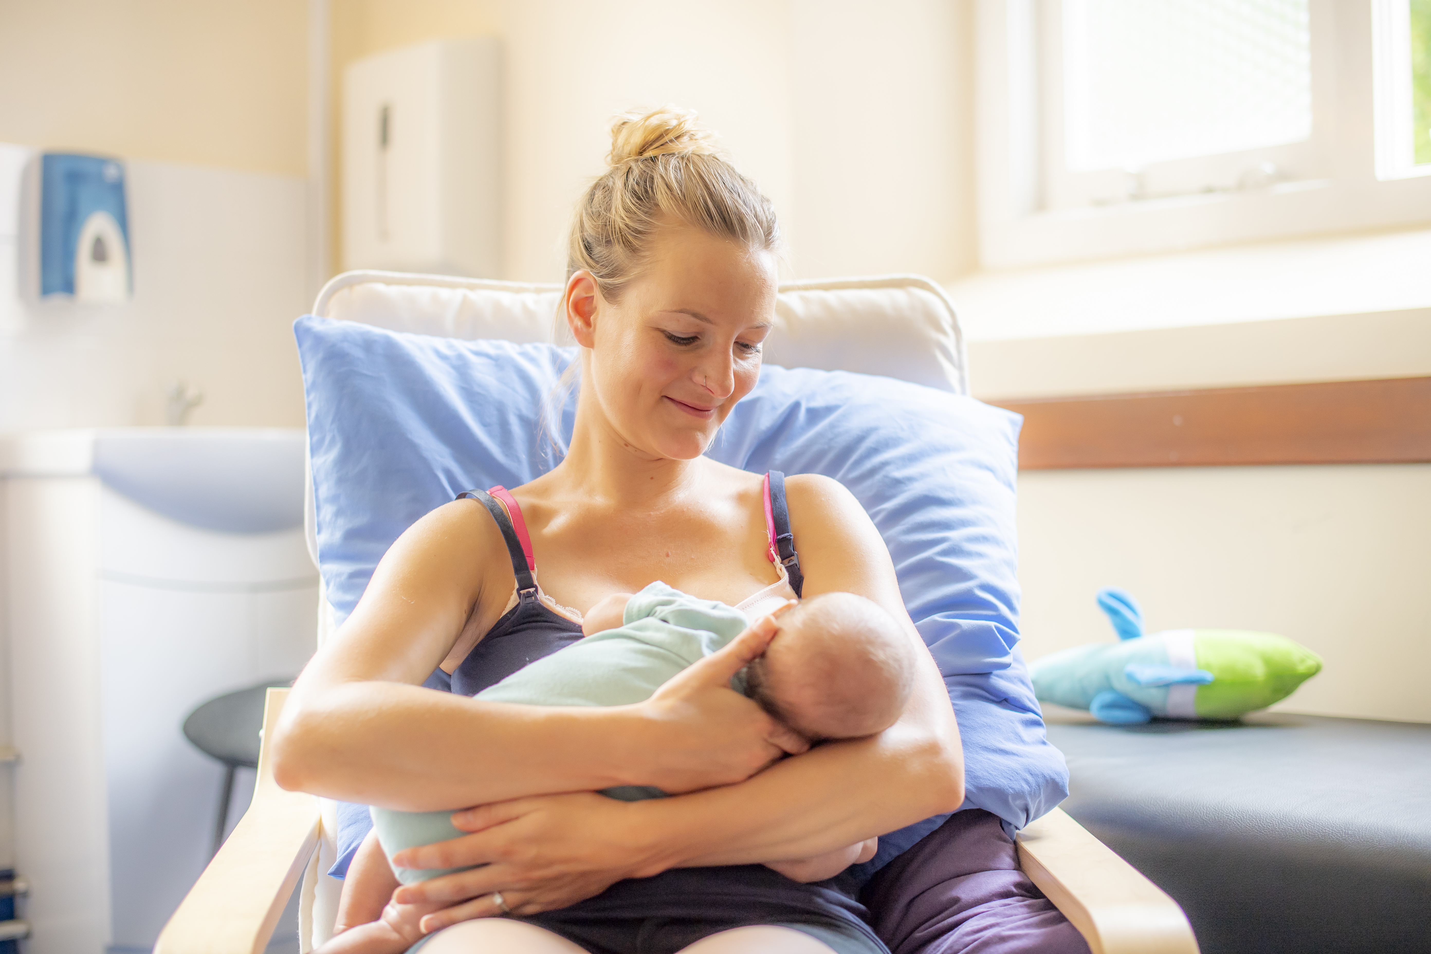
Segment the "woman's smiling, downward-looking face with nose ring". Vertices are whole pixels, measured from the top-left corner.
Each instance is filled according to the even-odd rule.
[[[582,402],[594,400],[604,428],[645,458],[700,456],[760,378],[776,286],[773,253],[684,225],[657,235],[617,302],[578,272],[567,316],[591,349]]]

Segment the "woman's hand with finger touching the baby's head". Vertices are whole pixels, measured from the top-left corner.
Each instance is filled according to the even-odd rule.
[[[641,702],[645,778],[680,792],[743,782],[784,755],[810,748],[809,739],[730,688],[730,679],[758,658],[776,635],[776,622],[763,616],[721,651],[687,667]]]

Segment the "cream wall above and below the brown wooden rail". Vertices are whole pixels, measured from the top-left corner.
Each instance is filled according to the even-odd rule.
[[[1431,375],[1431,309],[969,350],[985,398]],[[1123,586],[1152,629],[1318,652],[1279,709],[1431,722],[1431,465],[1026,471],[1019,549],[1029,658],[1112,639],[1093,595]]]

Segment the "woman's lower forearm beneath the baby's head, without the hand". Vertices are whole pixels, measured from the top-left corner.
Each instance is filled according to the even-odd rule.
[[[962,802],[963,754],[950,714],[936,731],[896,725],[788,758],[738,785],[643,802],[640,825],[654,874],[807,858]]]

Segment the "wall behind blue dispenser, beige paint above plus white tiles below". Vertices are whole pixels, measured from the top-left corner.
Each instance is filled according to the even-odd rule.
[[[126,159],[135,263],[129,305],[82,308],[19,303],[0,262],[0,431],[162,423],[179,378],[206,393],[193,423],[302,423],[286,325],[313,292],[306,16],[0,0],[0,143]]]

